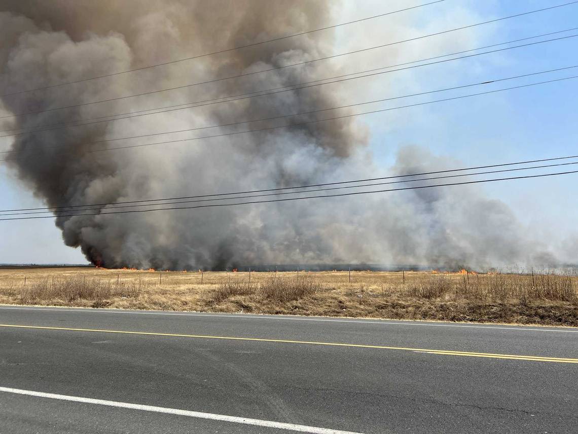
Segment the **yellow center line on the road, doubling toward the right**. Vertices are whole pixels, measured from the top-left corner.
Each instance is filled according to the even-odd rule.
[[[425,354],[468,356],[468,357],[510,359],[510,360],[525,360],[525,361],[533,361],[533,362],[578,363],[578,359],[560,358],[560,357],[531,356],[531,355],[521,355],[521,354],[492,354],[492,353],[485,353],[485,352],[468,352],[468,351],[452,351],[452,350],[431,350],[431,349],[427,349],[427,348],[389,347],[386,345],[347,344],[347,343],[336,343],[336,342],[299,341],[299,340],[287,340],[287,339],[266,339],[266,338],[262,338],[262,337],[210,336],[210,335],[206,335],[206,334],[180,334],[180,333],[159,333],[159,332],[131,332],[128,330],[75,329],[75,328],[68,328],[68,327],[47,327],[47,326],[31,326],[31,325],[16,325],[16,324],[0,324],[0,327],[20,328],[20,329],[40,329],[40,330],[66,330],[69,332],[97,332],[97,333],[138,334],[138,335],[145,335],[145,336],[190,337],[190,338],[196,338],[196,339],[221,339],[221,340],[238,340],[238,341],[275,342],[275,343],[282,343],[282,344],[328,345],[331,347],[374,348],[377,350],[400,350],[400,351],[420,352],[420,353],[425,353]]]

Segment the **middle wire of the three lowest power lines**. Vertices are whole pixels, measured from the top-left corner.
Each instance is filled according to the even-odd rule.
[[[176,204],[184,204],[184,203],[198,203],[198,202],[214,202],[214,201],[223,201],[223,200],[236,200],[236,199],[246,199],[246,198],[252,198],[252,197],[284,196],[284,195],[286,195],[286,194],[302,194],[302,193],[326,192],[326,191],[331,191],[331,190],[343,190],[343,189],[353,189],[353,188],[361,188],[361,187],[373,187],[373,186],[377,186],[377,185],[390,185],[390,184],[399,184],[399,183],[405,183],[405,182],[434,181],[434,180],[437,180],[437,179],[462,178],[462,177],[464,177],[464,176],[488,175],[488,174],[495,174],[495,173],[514,172],[514,171],[520,171],[520,170],[534,170],[534,169],[549,168],[549,167],[560,167],[560,166],[575,165],[575,164],[578,164],[578,161],[573,161],[572,163],[545,164],[545,165],[537,165],[537,166],[531,166],[531,167],[516,167],[516,168],[513,168],[513,169],[492,170],[492,171],[474,172],[474,173],[466,173],[466,174],[458,174],[458,175],[432,176],[431,178],[408,179],[408,180],[402,180],[402,181],[388,181],[388,182],[376,182],[376,183],[362,184],[362,185],[349,185],[349,186],[340,186],[340,187],[326,187],[326,188],[320,188],[320,189],[316,189],[316,190],[305,190],[305,191],[303,191],[303,192],[265,193],[265,194],[253,194],[253,195],[251,195],[251,196],[233,196],[233,197],[221,197],[221,198],[212,198],[212,199],[185,200],[185,201],[168,202],[168,203],[140,204],[140,205],[120,205],[120,206],[107,207],[107,208],[104,208],[104,209],[151,207],[151,206],[160,206],[160,205],[176,205]],[[0,214],[0,216],[29,215],[29,214],[48,214],[48,213],[52,213],[52,212],[100,211],[101,209],[103,209],[103,208],[83,208],[83,209],[63,210],[63,211],[18,212],[18,213],[13,213],[13,214]]]

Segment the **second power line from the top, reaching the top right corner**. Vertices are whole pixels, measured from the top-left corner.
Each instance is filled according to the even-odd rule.
[[[205,81],[205,82],[192,83],[192,84],[187,84],[187,85],[185,85],[185,86],[176,86],[176,87],[171,87],[171,88],[168,88],[168,89],[153,90],[153,91],[148,91],[148,92],[144,92],[144,93],[140,93],[140,94],[126,95],[126,96],[124,96],[124,97],[108,98],[108,99],[106,99],[106,100],[101,100],[101,101],[84,102],[84,103],[81,103],[81,104],[73,104],[73,105],[68,105],[68,106],[55,107],[55,108],[46,109],[46,110],[40,110],[40,111],[35,111],[35,112],[16,113],[16,114],[14,114],[14,115],[9,115],[9,116],[0,116],[0,119],[5,119],[6,117],[18,117],[18,116],[25,116],[25,115],[34,115],[34,114],[38,114],[38,113],[46,113],[46,112],[51,112],[51,111],[55,111],[55,110],[61,110],[61,109],[68,109],[68,108],[80,107],[80,106],[84,106],[84,105],[99,104],[99,103],[101,103],[101,102],[110,102],[110,101],[124,100],[125,98],[139,97],[139,96],[143,96],[143,95],[150,95],[150,94],[159,93],[159,92],[165,92],[165,91],[169,91],[169,90],[183,89],[183,88],[185,88],[185,87],[198,86],[198,85],[200,85],[200,84],[215,83],[215,82],[220,82],[220,81],[223,81],[223,80],[229,80],[229,79],[233,79],[233,78],[240,78],[240,77],[244,77],[244,76],[254,75],[254,74],[261,73],[261,72],[278,71],[279,69],[290,68],[290,67],[294,67],[294,66],[298,66],[298,65],[310,64],[310,63],[313,63],[313,62],[318,62],[318,61],[322,61],[322,60],[328,60],[328,59],[331,59],[331,58],[336,58],[336,57],[341,57],[341,56],[347,56],[347,55],[349,55],[349,54],[362,53],[362,52],[366,52],[366,51],[369,51],[369,50],[375,50],[375,49],[378,49],[378,48],[383,48],[383,47],[388,47],[388,46],[392,46],[392,45],[397,45],[397,44],[400,44],[400,43],[417,41],[418,39],[429,38],[429,37],[431,37],[431,36],[442,35],[442,34],[446,34],[446,33],[449,33],[449,32],[458,31],[458,30],[465,30],[466,28],[476,27],[476,26],[478,26],[478,25],[495,23],[495,22],[497,22],[497,21],[507,20],[507,19],[511,19],[511,18],[515,18],[515,17],[520,17],[520,16],[532,14],[532,13],[537,13],[537,12],[543,12],[543,11],[545,11],[545,10],[550,10],[550,9],[554,9],[554,8],[561,8],[562,6],[569,6],[569,5],[573,5],[573,4],[575,4],[575,3],[578,3],[578,0],[573,1],[573,2],[564,3],[564,4],[562,4],[562,5],[550,6],[549,8],[531,10],[531,11],[528,11],[528,12],[518,13],[518,14],[514,14],[514,15],[510,15],[510,16],[506,16],[506,17],[501,17],[501,18],[497,18],[497,19],[493,19],[493,20],[482,21],[481,23],[469,24],[469,25],[465,25],[465,26],[462,26],[462,27],[453,28],[453,29],[450,29],[450,30],[444,30],[444,31],[436,32],[436,33],[427,34],[427,35],[416,36],[416,37],[414,37],[414,38],[404,39],[403,41],[389,42],[389,43],[386,43],[386,44],[383,44],[383,45],[368,47],[368,48],[359,49],[359,50],[354,50],[354,51],[352,51],[352,52],[334,54],[334,55],[332,55],[332,56],[325,56],[325,57],[320,57],[320,58],[313,59],[313,60],[307,60],[307,61],[303,61],[303,62],[297,62],[297,63],[293,63],[293,64],[283,65],[283,66],[281,66],[281,67],[274,67],[274,68],[269,68],[269,69],[261,69],[260,71],[246,72],[246,73],[242,73],[242,74],[238,74],[238,75],[232,75],[232,76],[228,76],[228,77],[224,77],[224,78],[207,80],[207,81]]]

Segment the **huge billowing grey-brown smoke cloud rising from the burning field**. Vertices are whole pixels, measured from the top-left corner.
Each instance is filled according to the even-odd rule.
[[[334,2],[269,0],[173,2],[5,1],[0,6],[2,93],[71,82],[239,46],[334,22]],[[214,77],[279,67],[333,53],[332,33],[303,35],[215,56],[3,98],[5,128],[39,125],[243,94],[327,76],[308,64],[170,92],[81,105]],[[335,65],[334,65],[335,66]],[[339,65],[337,65],[339,67]],[[325,68],[325,69],[324,69]],[[335,69],[333,70],[333,72]],[[337,75],[337,73],[335,73]],[[50,207],[190,196],[365,178],[380,173],[354,118],[253,134],[126,150],[119,145],[303,122],[82,144],[105,139],[249,121],[340,105],[339,86],[63,128],[13,139],[17,176]],[[2,108],[0,106],[0,108]],[[331,112],[335,115],[335,112]],[[340,110],[339,115],[350,113]],[[328,116],[328,115],[327,115]],[[66,152],[58,146],[66,145]],[[68,146],[72,145],[72,146]],[[456,162],[459,166],[460,163]],[[394,172],[447,168],[407,147]],[[67,245],[106,267],[186,269],[238,264],[411,263],[487,266],[553,260],[528,240],[512,212],[475,187],[450,187],[183,211],[58,217]]]

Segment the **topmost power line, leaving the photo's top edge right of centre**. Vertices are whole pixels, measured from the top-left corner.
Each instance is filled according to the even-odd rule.
[[[362,21],[373,20],[373,19],[380,18],[380,17],[384,17],[384,16],[391,15],[391,14],[395,14],[395,13],[399,13],[399,12],[405,12],[406,10],[423,8],[423,6],[429,6],[429,5],[433,5],[433,4],[435,4],[435,3],[441,3],[441,2],[443,2],[443,1],[445,1],[445,0],[436,0],[436,1],[433,1],[433,2],[429,2],[429,3],[424,3],[424,4],[422,4],[422,5],[411,6],[410,8],[394,10],[394,11],[392,11],[392,12],[381,13],[381,14],[379,14],[379,15],[373,15],[373,16],[365,17],[365,18],[358,19],[358,20],[347,21],[346,23],[328,25],[327,27],[321,27],[321,28],[317,28],[317,29],[314,29],[314,30],[308,30],[308,31],[305,31],[305,32],[299,32],[299,33],[295,33],[295,34],[292,34],[292,35],[279,36],[278,38],[268,39],[267,41],[254,42],[254,43],[250,43],[250,44],[246,44],[246,45],[240,45],[240,46],[236,46],[236,47],[232,47],[232,48],[228,48],[228,49],[218,50],[218,51],[212,52],[212,53],[198,54],[197,56],[191,56],[191,57],[186,57],[186,58],[182,58],[182,59],[172,60],[172,61],[168,61],[168,62],[158,63],[158,64],[155,64],[155,65],[149,65],[149,66],[146,66],[146,67],[140,67],[140,68],[134,68],[134,69],[127,69],[126,71],[113,72],[113,73],[104,74],[104,75],[99,75],[99,76],[95,76],[95,77],[84,78],[84,79],[80,79],[80,80],[74,80],[74,81],[72,81],[72,82],[64,82],[64,83],[58,83],[58,84],[51,84],[50,86],[36,87],[35,89],[27,89],[27,90],[20,90],[20,91],[13,92],[13,93],[6,93],[6,94],[3,94],[3,95],[0,95],[0,97],[7,97],[7,96],[10,96],[10,95],[18,95],[18,94],[22,94],[22,93],[32,92],[32,91],[35,91],[35,90],[51,89],[51,88],[53,88],[53,87],[65,86],[66,84],[87,82],[87,81],[89,81],[89,80],[96,80],[96,79],[100,79],[100,78],[111,77],[111,76],[115,76],[115,75],[121,75],[121,74],[125,74],[125,73],[128,73],[128,72],[142,71],[143,69],[156,68],[156,67],[160,67],[160,66],[163,66],[163,65],[170,65],[170,64],[177,63],[177,62],[183,62],[183,61],[186,61],[186,60],[193,60],[193,59],[197,59],[197,58],[201,58],[201,57],[206,57],[206,56],[213,56],[214,54],[221,54],[221,53],[232,52],[232,51],[235,51],[235,50],[240,50],[240,49],[247,48],[247,47],[254,47],[254,46],[262,45],[262,44],[269,43],[269,42],[282,41],[283,39],[294,38],[295,36],[302,36],[302,35],[306,35],[306,34],[313,33],[313,32],[319,32],[319,31],[322,31],[322,30],[329,30],[329,29],[331,29],[331,28],[340,27],[340,26],[342,26],[342,25],[348,25],[348,24],[354,24],[354,23],[361,23]],[[560,6],[564,6],[564,5],[560,5]],[[555,6],[555,7],[560,7],[560,6]]]

